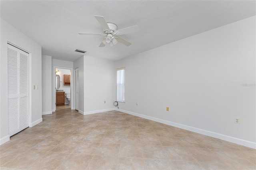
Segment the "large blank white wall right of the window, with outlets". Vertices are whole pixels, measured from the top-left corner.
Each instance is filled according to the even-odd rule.
[[[116,68],[126,68],[126,103],[119,108],[256,148],[255,20],[116,61]]]

